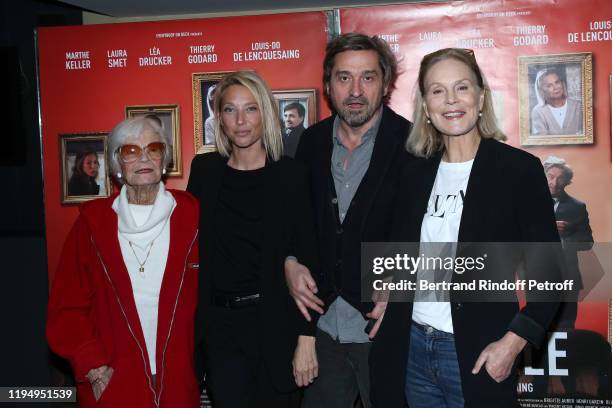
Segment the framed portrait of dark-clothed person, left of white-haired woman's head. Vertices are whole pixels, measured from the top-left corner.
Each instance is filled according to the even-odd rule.
[[[108,132],[61,134],[59,137],[62,204],[110,196],[106,162]]]

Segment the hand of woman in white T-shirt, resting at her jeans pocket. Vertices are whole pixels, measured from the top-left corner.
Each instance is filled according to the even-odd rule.
[[[527,340],[519,335],[507,332],[504,337],[485,347],[480,353],[472,374],[478,374],[482,366],[495,381],[502,382],[510,375],[516,356],[523,350]]]

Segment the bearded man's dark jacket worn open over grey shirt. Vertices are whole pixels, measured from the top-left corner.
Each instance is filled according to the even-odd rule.
[[[295,158],[310,170],[320,250],[319,296],[330,305],[342,295],[365,315],[372,309],[372,302],[361,302],[361,243],[389,237],[400,170],[412,157],[404,148],[411,123],[383,107],[370,166],[340,224],[331,174],[334,118],[306,129]]]

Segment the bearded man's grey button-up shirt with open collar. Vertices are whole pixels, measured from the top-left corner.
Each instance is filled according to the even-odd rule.
[[[357,188],[368,171],[374,142],[380,127],[382,114],[361,138],[361,144],[349,152],[342,144],[338,135],[340,118],[336,115],[332,133],[333,151],[331,160],[331,172],[334,178],[336,196],[338,199],[338,217],[344,222],[344,217],[349,210],[351,201],[357,192]],[[346,169],[343,166],[347,162]],[[357,255],[355,255],[357,256]],[[363,318],[361,312],[350,305],[341,296],[329,306],[327,312],[321,316],[317,327],[340,343],[366,343],[370,341],[368,335],[363,331],[368,322]]]

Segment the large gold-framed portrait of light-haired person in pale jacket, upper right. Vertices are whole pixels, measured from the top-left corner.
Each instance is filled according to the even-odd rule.
[[[521,145],[593,143],[590,52],[519,57]]]

